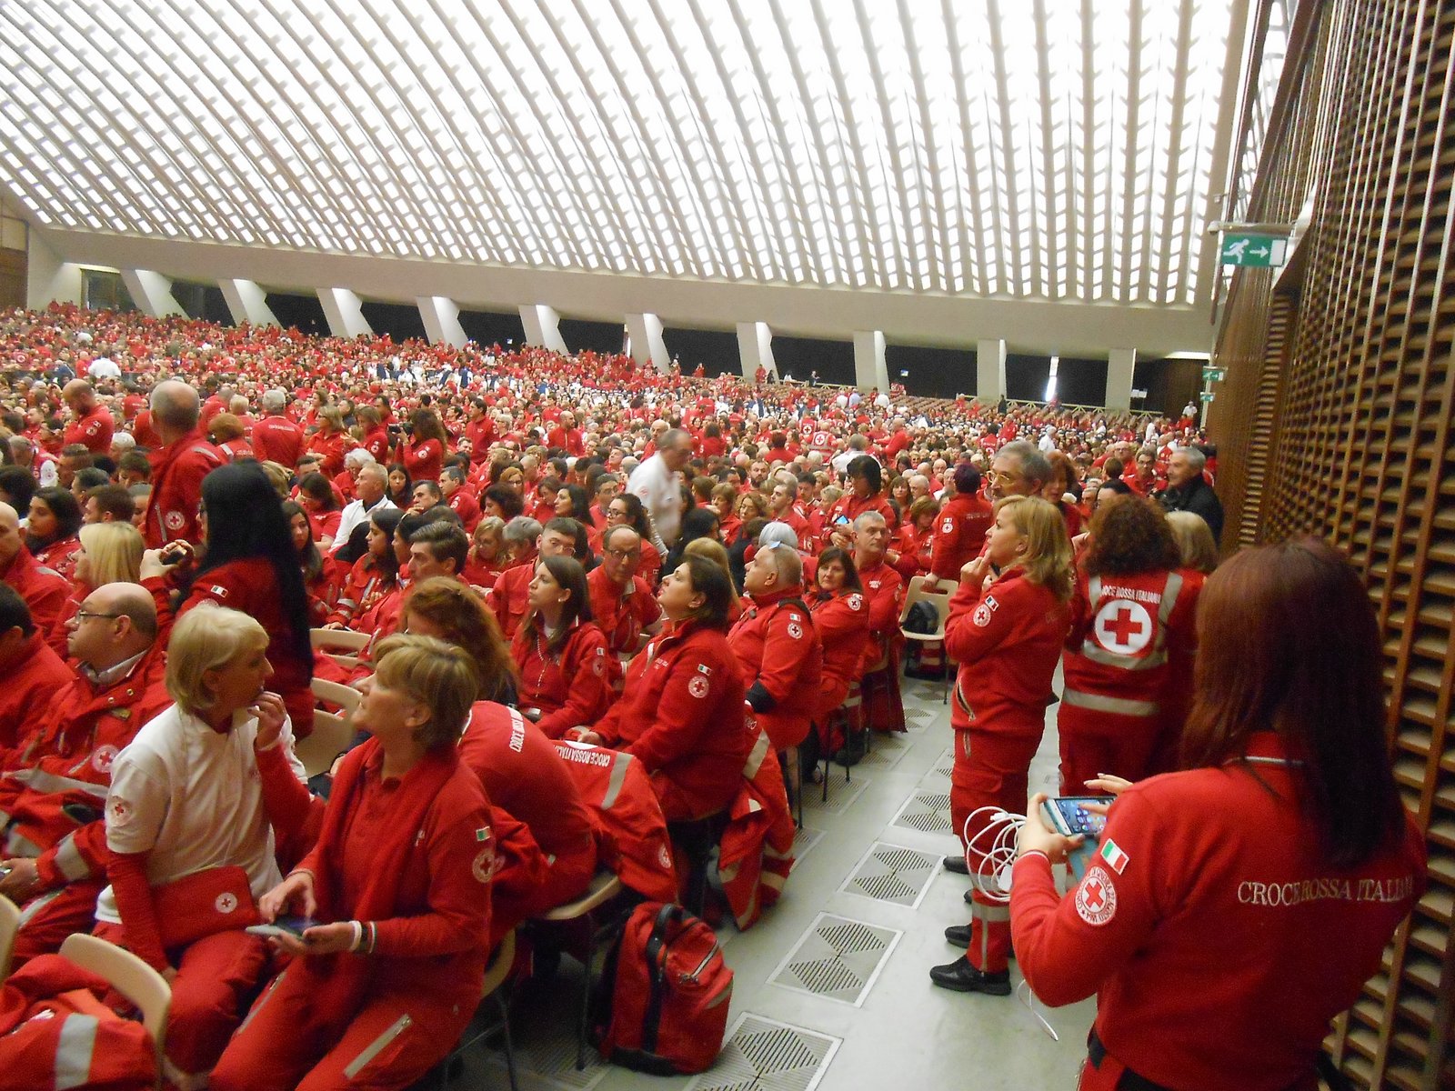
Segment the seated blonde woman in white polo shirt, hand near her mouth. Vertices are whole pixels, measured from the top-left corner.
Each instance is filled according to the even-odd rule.
[[[198,1085],[217,1062],[268,962],[256,902],[278,884],[275,838],[310,809],[278,694],[265,690],[268,631],[212,602],[167,643],[175,706],[115,759],[106,797],[111,886],[96,932],[172,982],[169,1082]]]

